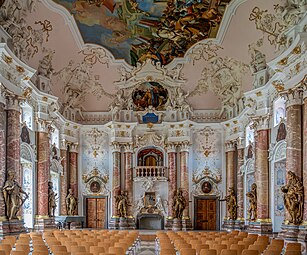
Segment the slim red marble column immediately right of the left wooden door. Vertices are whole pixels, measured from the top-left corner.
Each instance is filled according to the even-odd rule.
[[[112,215],[117,216],[115,198],[120,193],[120,165],[121,153],[120,145],[113,143],[113,182],[112,182]]]

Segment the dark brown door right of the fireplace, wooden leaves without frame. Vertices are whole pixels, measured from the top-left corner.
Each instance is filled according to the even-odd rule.
[[[196,229],[216,230],[216,200],[197,199],[196,201]]]

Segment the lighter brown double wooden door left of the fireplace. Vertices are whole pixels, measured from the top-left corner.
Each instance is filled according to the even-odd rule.
[[[106,227],[106,199],[87,198],[86,199],[86,222],[88,228]]]

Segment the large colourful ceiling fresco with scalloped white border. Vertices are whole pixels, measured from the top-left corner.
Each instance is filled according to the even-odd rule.
[[[162,65],[195,43],[215,38],[231,0],[53,0],[75,18],[85,43],[136,65]]]

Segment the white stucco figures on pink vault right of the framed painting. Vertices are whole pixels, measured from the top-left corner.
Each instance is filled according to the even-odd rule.
[[[248,65],[230,57],[212,57],[208,61],[190,97],[211,90],[222,100],[220,116],[230,109],[233,115],[239,114],[244,108],[242,77]]]

